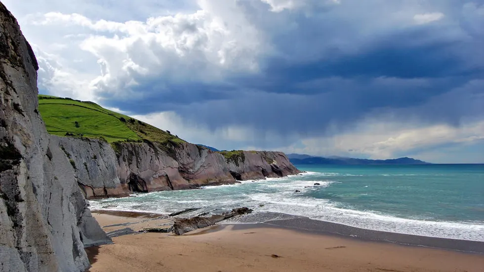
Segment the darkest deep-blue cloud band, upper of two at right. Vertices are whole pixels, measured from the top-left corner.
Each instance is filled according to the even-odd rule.
[[[393,38],[392,41],[382,41],[367,52],[356,55],[317,60],[296,66],[275,60],[274,63],[270,63],[269,74],[279,75],[281,78],[291,76],[290,79],[294,81],[304,81],[331,76],[440,78],[476,76],[483,73],[482,68],[466,67],[466,60],[454,54],[459,50],[475,50],[478,53],[473,44],[435,41],[422,46],[405,46],[405,40],[414,39],[414,33],[402,33]]]

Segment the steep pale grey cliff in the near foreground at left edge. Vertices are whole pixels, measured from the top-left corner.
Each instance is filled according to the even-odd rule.
[[[0,271],[83,272],[84,245],[111,240],[38,112],[37,61],[0,3]]]

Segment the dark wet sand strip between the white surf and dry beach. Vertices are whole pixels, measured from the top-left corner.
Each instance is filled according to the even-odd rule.
[[[144,218],[144,219],[167,219],[165,214],[152,212],[133,212],[119,210],[92,210],[93,214],[106,214],[125,218]],[[261,213],[263,214],[263,213]],[[406,233],[391,233],[384,231],[375,231],[348,226],[339,223],[332,223],[311,219],[304,216],[278,214],[285,219],[268,220],[259,223],[232,223],[222,221],[217,223],[218,226],[233,226],[234,230],[245,230],[249,228],[280,228],[292,230],[300,233],[309,233],[317,235],[334,235],[336,237],[355,239],[370,242],[382,242],[397,244],[403,246],[425,247],[443,249],[464,253],[484,254],[484,241],[461,240],[434,236],[421,236]],[[250,216],[250,214],[248,215]],[[242,217],[243,218],[243,217]],[[102,226],[101,226],[102,227]],[[190,233],[187,233],[190,234]]]

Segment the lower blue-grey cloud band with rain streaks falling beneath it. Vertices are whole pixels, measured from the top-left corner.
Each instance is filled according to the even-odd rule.
[[[401,82],[396,83],[396,86],[392,86],[391,82],[388,84],[390,88],[399,88]],[[434,84],[434,81],[428,84]],[[209,120],[207,123],[212,128],[232,123],[255,124],[261,130],[275,130],[282,134],[297,131],[307,136],[330,134],[326,130],[329,124],[336,125],[339,131],[351,130],[351,123],[367,115],[382,119],[388,117],[403,121],[417,118],[426,123],[451,124],[458,124],[462,117],[483,117],[484,97],[475,92],[482,94],[484,82],[480,82],[479,87],[463,86],[434,97],[422,95],[425,89],[418,85],[410,84],[407,87],[411,94],[404,90],[400,93],[391,92],[387,87],[374,82],[354,85],[351,89],[333,89],[311,96],[251,93],[235,100],[180,107],[177,112],[192,120]],[[381,96],[378,91],[386,95]]]

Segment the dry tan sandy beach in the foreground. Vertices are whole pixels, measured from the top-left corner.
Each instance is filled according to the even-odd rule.
[[[107,232],[156,215],[93,213]],[[161,219],[162,221],[162,219]],[[115,226],[113,226],[115,225]],[[110,226],[110,227],[105,227]],[[87,249],[90,272],[482,272],[484,254],[372,242],[284,228],[221,225],[176,236],[137,233]]]

